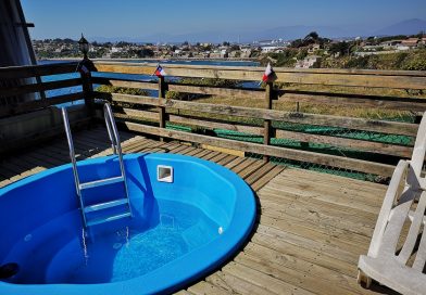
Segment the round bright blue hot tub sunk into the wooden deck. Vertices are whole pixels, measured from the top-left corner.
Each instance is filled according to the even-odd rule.
[[[0,294],[152,294],[220,267],[255,218],[251,189],[214,163],[174,154],[124,156],[133,218],[85,229],[71,165],[0,189]],[[162,171],[166,171],[165,174]],[[116,156],[78,162],[86,180],[120,174]],[[115,197],[123,183],[88,192]]]

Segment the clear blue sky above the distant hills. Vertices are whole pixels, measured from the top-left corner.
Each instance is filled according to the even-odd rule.
[[[22,0],[35,39],[140,38],[155,34],[247,31],[280,26],[375,30],[426,18],[425,0]]]

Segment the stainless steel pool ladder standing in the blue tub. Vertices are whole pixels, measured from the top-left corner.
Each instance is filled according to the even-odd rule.
[[[117,128],[115,125],[114,116],[111,111],[111,105],[109,103],[105,103],[103,105],[103,113],[104,113],[104,117],[105,117],[105,125],[106,125],[108,134],[111,140],[112,151],[115,155],[118,156],[121,175],[116,176],[116,177],[104,178],[104,179],[99,179],[99,180],[95,180],[95,181],[80,183],[79,177],[78,177],[77,162],[75,158],[74,143],[73,143],[72,134],[71,134],[68,115],[66,112],[66,107],[62,107],[62,117],[63,117],[63,121],[64,121],[64,126],[65,126],[66,139],[67,139],[68,146],[70,146],[70,157],[71,157],[71,163],[73,166],[75,189],[77,192],[77,196],[78,196],[78,201],[79,201],[79,205],[80,205],[80,209],[82,209],[83,222],[84,222],[85,228],[90,227],[90,226],[95,226],[95,225],[100,225],[100,223],[113,221],[113,220],[117,220],[117,219],[125,218],[125,217],[133,217],[130,200],[128,197],[127,179],[126,179],[126,172],[124,169],[122,146],[120,143],[120,136],[118,136],[118,131],[117,131]],[[106,184],[111,184],[111,183],[117,183],[117,182],[123,182],[123,187],[124,187],[125,195],[126,195],[125,197],[117,198],[114,201],[104,202],[104,203],[92,204],[89,206],[85,205],[82,191],[84,191],[86,189],[91,189],[91,188],[106,185]],[[90,217],[88,218],[88,216],[87,216],[87,214],[89,214],[89,213],[104,210],[104,209],[117,207],[117,206],[125,206],[126,210],[121,214],[106,215],[106,216],[96,217],[96,218],[90,218]]]

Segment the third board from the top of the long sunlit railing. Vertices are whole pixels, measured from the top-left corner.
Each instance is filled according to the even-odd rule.
[[[100,98],[112,98],[116,102],[134,104],[147,104],[159,106],[159,100],[149,97],[102,93],[96,92]],[[416,124],[394,123],[385,120],[369,120],[362,118],[339,117],[329,115],[316,115],[306,113],[290,113],[275,110],[251,108],[242,106],[229,106],[210,103],[196,103],[177,100],[166,100],[164,106],[192,112],[213,113],[221,115],[233,115],[238,117],[271,119],[276,121],[287,121],[297,124],[309,124],[318,126],[342,127],[353,130],[375,131],[390,134],[415,136],[418,126]]]

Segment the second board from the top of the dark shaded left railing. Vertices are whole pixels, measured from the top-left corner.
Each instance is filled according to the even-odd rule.
[[[13,97],[13,95],[20,95],[25,93],[39,92],[39,91],[52,90],[52,89],[61,89],[66,87],[80,86],[80,85],[82,85],[82,79],[74,78],[74,79],[49,81],[49,82],[41,82],[41,84],[28,84],[23,86],[15,86],[15,87],[2,87],[0,89],[0,97]]]

